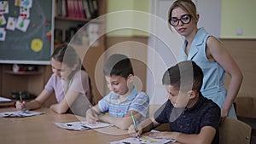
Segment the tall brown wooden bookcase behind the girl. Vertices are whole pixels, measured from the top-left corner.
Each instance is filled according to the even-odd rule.
[[[105,51],[105,20],[103,18],[104,16],[102,15],[106,14],[107,12],[107,1],[97,0],[97,7],[97,15],[100,18],[96,18],[93,20],[70,18],[65,16],[63,17],[55,14],[55,30],[61,30],[62,32],[62,38],[61,40],[55,41],[55,47],[61,43],[68,43],[72,44],[73,47],[77,50],[81,60],[83,61],[83,66],[89,74],[95,102],[102,99],[102,96],[104,95],[103,92],[105,91],[104,85],[106,85],[102,74],[103,72],[100,72],[101,74],[96,74],[96,65],[102,67],[102,63],[99,64],[98,61]],[[92,39],[92,41],[90,41],[90,34],[93,34],[93,32],[89,32],[91,31],[91,29],[89,28],[90,26],[97,27],[97,37],[96,39]],[[73,37],[71,37],[70,41],[67,40],[68,38],[66,33],[66,31],[68,31],[69,29],[76,29],[76,33],[74,35],[72,34]],[[82,33],[82,31],[85,32],[85,37],[84,33],[79,35],[80,33]],[[79,40],[76,40],[76,38],[78,38]],[[101,81],[96,82],[96,77],[97,79],[101,79]]]

